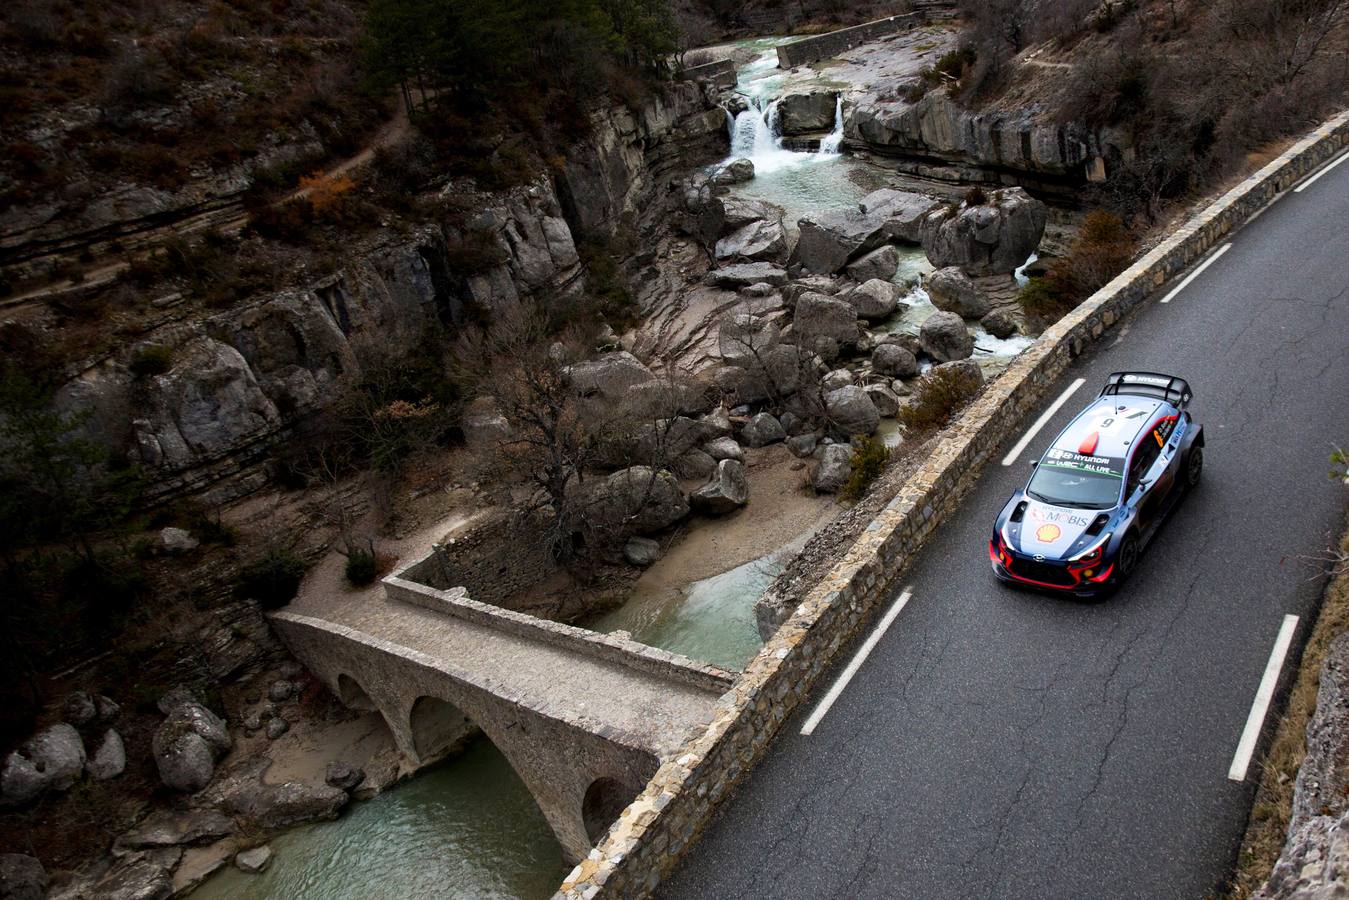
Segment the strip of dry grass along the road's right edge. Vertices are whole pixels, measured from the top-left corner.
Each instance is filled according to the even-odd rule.
[[[1340,553],[1349,555],[1349,528],[1340,537]],[[1307,754],[1307,722],[1317,710],[1317,687],[1326,648],[1340,634],[1349,631],[1349,569],[1340,573],[1326,587],[1317,625],[1311,631],[1298,680],[1288,694],[1288,704],[1269,750],[1260,761],[1260,788],[1256,791],[1246,835],[1237,855],[1237,869],[1222,897],[1242,900],[1249,897],[1269,877],[1279,851],[1283,849],[1292,812],[1292,788],[1298,768]]]

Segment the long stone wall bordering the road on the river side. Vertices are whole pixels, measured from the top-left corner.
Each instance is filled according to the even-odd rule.
[[[1346,144],[1349,112],[1229,190],[1018,356],[764,645],[718,703],[708,729],[661,765],[606,839],[567,876],[557,896],[650,895],[710,822],[716,804],[764,756],[838,649],[867,621],[871,607],[894,595],[928,534],[956,507],[982,466],[1039,406],[1072,358]]]

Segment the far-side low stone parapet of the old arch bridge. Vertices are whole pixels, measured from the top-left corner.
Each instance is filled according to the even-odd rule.
[[[532,641],[560,646],[596,660],[625,665],[637,672],[654,675],[681,684],[723,694],[731,688],[735,676],[708,663],[699,663],[679,653],[670,653],[637,641],[599,634],[561,622],[540,619],[523,613],[469,599],[463,587],[438,590],[403,578],[430,560],[430,555],[411,563],[406,569],[384,578],[384,591],[393,600],[410,603],[434,613],[442,613],[465,622],[486,625],[499,631],[517,634]]]

